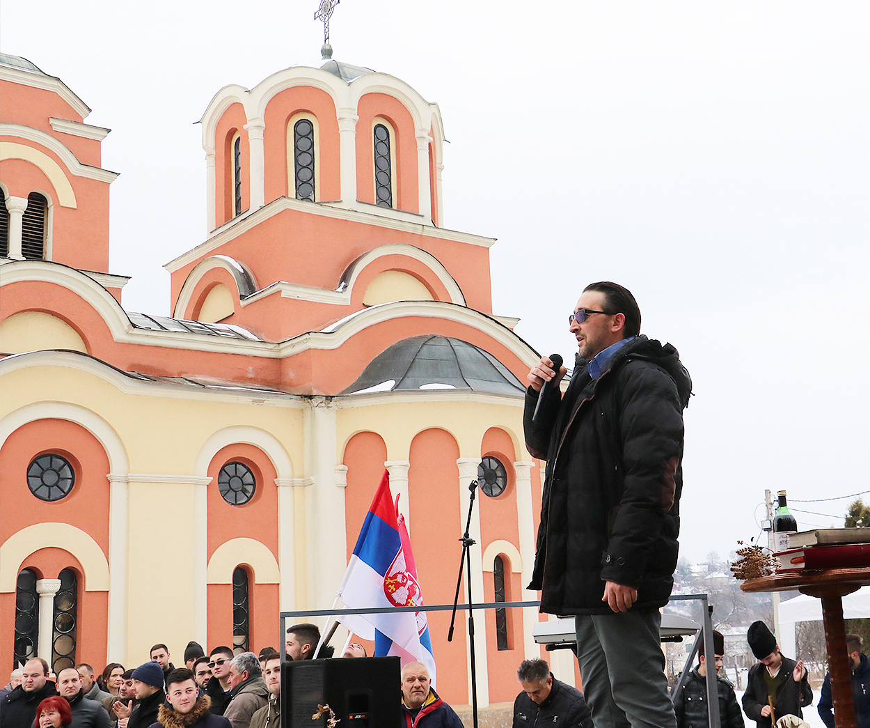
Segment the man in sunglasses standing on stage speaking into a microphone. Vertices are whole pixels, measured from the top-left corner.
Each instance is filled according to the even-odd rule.
[[[529,589],[542,612],[576,616],[595,728],[675,728],[659,607],[677,565],[692,381],[674,347],[640,334],[624,286],[586,286],[568,325],[579,351],[564,396],[566,367],[549,357],[528,375],[525,443],[546,461]]]

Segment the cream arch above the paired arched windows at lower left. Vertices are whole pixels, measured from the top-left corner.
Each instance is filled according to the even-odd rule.
[[[39,549],[50,548],[64,549],[78,559],[85,591],[109,591],[109,562],[99,544],[69,523],[46,522],[17,531],[0,546],[0,593],[14,593],[24,560]]]

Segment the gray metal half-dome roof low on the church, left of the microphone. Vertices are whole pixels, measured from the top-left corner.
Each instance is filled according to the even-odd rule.
[[[412,336],[385,348],[340,394],[445,389],[525,394],[522,382],[492,354],[438,334]]]

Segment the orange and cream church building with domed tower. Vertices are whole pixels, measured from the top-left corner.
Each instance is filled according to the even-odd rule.
[[[474,479],[476,599],[537,598],[539,355],[492,311],[494,240],[445,226],[437,104],[329,57],[218,91],[207,229],[157,315],[109,273],[110,130],[21,57],[0,54],[0,95],[4,669],[280,647],[280,611],[331,607],[385,468],[426,604],[452,603]],[[449,618],[429,613],[438,691],[469,704]],[[545,618],[478,613],[482,708],[526,657],[574,684],[570,651],[532,639]]]

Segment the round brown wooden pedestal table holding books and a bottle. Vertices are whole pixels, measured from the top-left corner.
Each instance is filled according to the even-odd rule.
[[[825,624],[827,666],[831,673],[833,721],[836,728],[855,728],[852,702],[852,667],[846,647],[846,624],[843,621],[843,597],[870,584],[870,568],[795,571],[747,579],[740,585],[744,591],[800,590],[821,599]],[[795,656],[796,658],[797,656]]]

